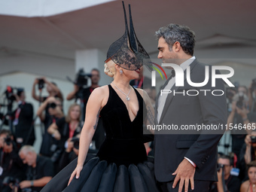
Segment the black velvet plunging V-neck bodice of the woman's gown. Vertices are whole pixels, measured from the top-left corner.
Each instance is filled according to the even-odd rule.
[[[107,104],[100,111],[106,139],[97,156],[108,163],[123,164],[142,163],[147,155],[143,144],[143,108],[145,107],[142,96],[135,89],[139,101],[139,111],[133,121],[123,100],[115,90],[108,85],[109,97]]]

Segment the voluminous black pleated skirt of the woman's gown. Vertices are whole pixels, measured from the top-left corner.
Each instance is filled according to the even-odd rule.
[[[76,191],[108,191],[108,192],[156,192],[154,178],[154,158],[148,157],[143,163],[130,166],[116,166],[99,160],[95,154],[88,154],[80,177],[73,178],[67,186],[69,177],[77,165],[77,159],[60,171],[41,192],[76,192]]]

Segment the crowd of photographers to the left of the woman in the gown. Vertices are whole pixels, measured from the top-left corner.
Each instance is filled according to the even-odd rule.
[[[87,87],[88,78],[90,87]],[[0,108],[7,109],[0,110],[0,191],[40,191],[59,170],[78,157],[87,99],[93,89],[99,87],[99,70],[93,69],[90,74],[85,74],[81,69],[73,83],[74,90],[66,99],[75,101],[66,114],[62,108],[64,98],[61,90],[47,78],[36,78],[32,85],[32,98],[39,102],[37,111],[26,101],[23,88],[7,88],[6,101],[0,104]],[[47,96],[41,96],[44,87]],[[13,108],[14,102],[17,102],[17,108]],[[42,134],[38,154],[32,147],[36,118],[41,120]],[[3,129],[4,124],[9,129]],[[90,153],[96,153],[104,137],[102,123],[99,122]]]

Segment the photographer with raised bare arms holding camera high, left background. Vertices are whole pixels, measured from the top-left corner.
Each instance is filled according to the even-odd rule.
[[[35,93],[35,85],[37,84],[40,91],[44,87],[44,84],[47,84],[46,90],[49,93],[49,95],[41,97],[41,100],[40,96],[36,95]],[[59,88],[56,86],[54,82],[47,81],[47,78],[36,78],[32,87],[32,98],[34,98],[37,101],[44,102],[44,100],[50,96],[58,97],[61,101],[63,101],[62,93],[60,92]]]

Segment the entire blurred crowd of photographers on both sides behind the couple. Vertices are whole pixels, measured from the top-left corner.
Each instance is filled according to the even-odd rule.
[[[87,87],[87,78],[91,80],[90,87]],[[142,87],[143,80],[134,81],[133,86]],[[36,78],[32,85],[32,98],[40,102],[38,111],[33,111],[32,104],[26,102],[25,90],[18,88],[14,91],[8,87],[5,92],[7,102],[0,105],[8,108],[6,114],[0,112],[0,118],[2,124],[9,126],[8,130],[0,126],[0,191],[40,191],[59,170],[78,157],[87,99],[93,89],[99,87],[98,83],[98,69],[93,69],[90,74],[81,69],[74,90],[66,97],[67,100],[75,99],[66,114],[59,87],[47,78]],[[47,96],[41,96],[44,86]],[[249,87],[236,83],[236,87],[227,88],[226,94],[227,127],[230,128],[227,131],[231,133],[232,152],[219,154],[218,182],[212,184],[210,191],[243,192],[249,188],[256,191],[256,79]],[[13,102],[17,102],[14,110]],[[35,142],[34,112],[40,118],[42,128],[38,154],[32,147]],[[99,119],[89,153],[96,153],[104,138]],[[151,147],[147,148],[151,151],[148,149]]]

